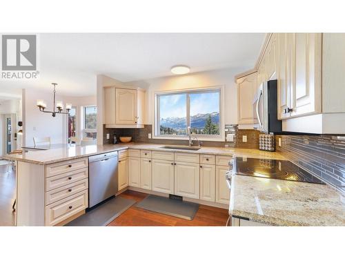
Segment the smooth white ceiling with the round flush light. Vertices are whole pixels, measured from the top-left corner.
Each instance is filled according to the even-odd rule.
[[[0,94],[21,88],[59,94],[95,95],[96,75],[136,81],[172,75],[171,66],[191,73],[220,68],[253,68],[264,33],[45,33],[39,34],[37,81],[1,81]]]

